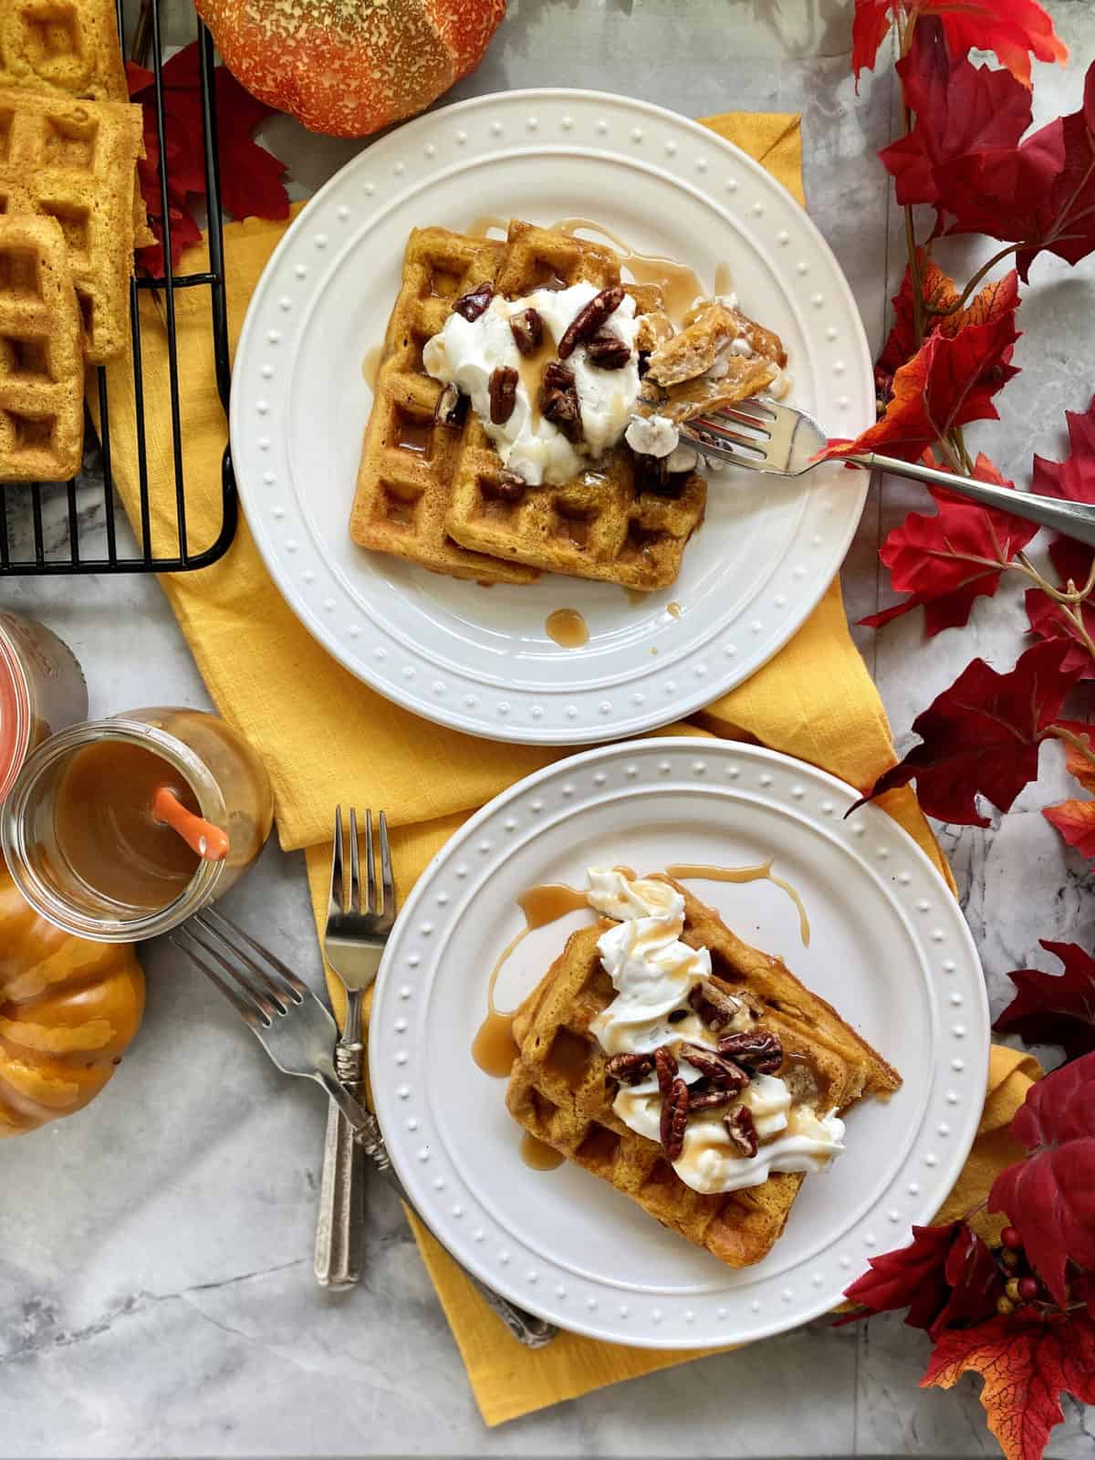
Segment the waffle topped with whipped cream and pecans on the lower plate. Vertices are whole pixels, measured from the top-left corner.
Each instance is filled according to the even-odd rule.
[[[731,1267],[780,1237],[844,1113],[896,1070],[781,962],[666,876],[591,867],[574,933],[514,1018],[526,1130]]]

